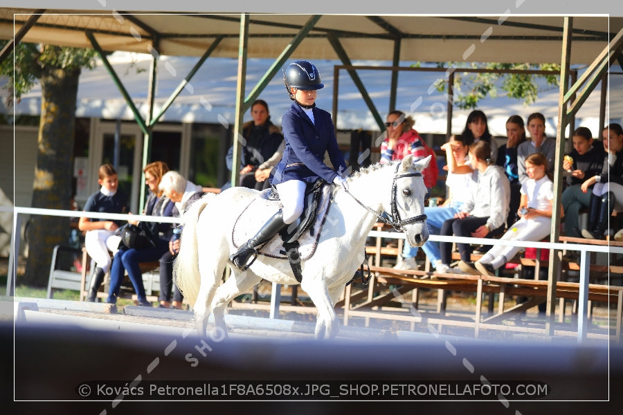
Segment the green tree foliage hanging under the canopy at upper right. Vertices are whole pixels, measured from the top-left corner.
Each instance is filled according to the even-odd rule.
[[[455,66],[452,62],[440,64],[442,68]],[[489,95],[491,98],[505,95],[508,98],[523,100],[524,104],[532,104],[539,94],[538,80],[552,86],[559,86],[558,75],[533,75],[530,73],[468,73],[461,72],[461,68],[480,69],[521,69],[539,71],[560,71],[557,64],[467,64],[456,68],[454,75],[454,104],[460,109],[475,109],[478,102]],[[437,82],[437,91],[444,92],[447,82]]]

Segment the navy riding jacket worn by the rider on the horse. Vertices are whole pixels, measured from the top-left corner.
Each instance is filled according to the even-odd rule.
[[[281,161],[273,169],[271,184],[289,180],[313,183],[318,177],[332,183],[338,175],[336,172],[345,172],[346,162],[338,148],[331,115],[316,107],[312,111],[314,122],[293,102],[281,119],[285,149]],[[324,163],[327,151],[334,169]]]

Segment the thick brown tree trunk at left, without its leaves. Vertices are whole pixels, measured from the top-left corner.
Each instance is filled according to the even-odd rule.
[[[69,210],[73,176],[75,107],[80,69],[53,69],[39,78],[42,87],[33,208]],[[46,286],[52,250],[66,245],[69,218],[32,215],[28,223],[28,261],[21,284]]]

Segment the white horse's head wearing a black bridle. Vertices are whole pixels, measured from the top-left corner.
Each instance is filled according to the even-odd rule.
[[[431,156],[414,162],[409,154],[397,165],[393,178],[392,220],[397,229],[404,231],[410,246],[422,246],[428,240],[424,214],[424,199],[428,190],[422,177],[428,163],[431,163]]]

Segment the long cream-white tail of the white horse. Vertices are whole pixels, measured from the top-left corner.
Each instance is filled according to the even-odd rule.
[[[190,209],[183,215],[184,228],[180,239],[180,249],[173,264],[173,281],[190,306],[195,306],[201,286],[199,249],[197,248],[199,216],[215,197],[216,194],[206,194],[192,203]]]

